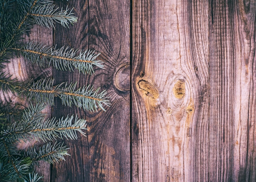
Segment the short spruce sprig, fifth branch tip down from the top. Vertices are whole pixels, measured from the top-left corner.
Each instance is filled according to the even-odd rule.
[[[65,160],[64,156],[69,156],[67,153],[67,146],[63,146],[63,143],[47,143],[40,147],[39,150],[36,150],[37,147],[33,147],[28,149],[25,152],[25,156],[30,157],[33,161],[43,160],[45,162],[49,162],[54,164],[55,162],[59,162],[61,160]]]

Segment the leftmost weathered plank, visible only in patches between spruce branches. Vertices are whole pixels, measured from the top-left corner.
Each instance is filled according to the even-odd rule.
[[[31,29],[29,35],[24,35],[24,42],[34,41],[41,42],[45,45],[52,46],[52,37],[53,30],[46,27],[34,25]],[[17,78],[20,81],[36,80],[41,78],[52,77],[52,67],[40,68],[39,66],[32,64],[30,61],[24,59],[24,57],[17,57],[11,59],[9,63],[6,64],[7,67],[4,69],[4,72],[12,75],[12,78]],[[2,93],[0,92],[0,99],[3,103],[10,103],[10,105],[15,105],[16,103],[21,106],[28,106],[28,101],[20,99],[15,94]],[[44,110],[46,117],[51,117],[51,107],[47,107]],[[22,142],[18,143],[17,147],[19,149],[27,149],[32,145],[38,145],[36,141],[29,141],[27,143]],[[50,180],[50,164],[47,162],[40,161],[40,166],[35,167],[36,173],[44,176],[44,181]]]

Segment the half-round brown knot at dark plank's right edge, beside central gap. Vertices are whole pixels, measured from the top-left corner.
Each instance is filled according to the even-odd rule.
[[[117,90],[130,90],[130,65],[121,66],[114,77],[114,86]]]

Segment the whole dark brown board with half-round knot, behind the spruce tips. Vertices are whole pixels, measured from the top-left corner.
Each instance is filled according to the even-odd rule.
[[[92,84],[107,89],[112,106],[107,111],[83,112],[60,106],[53,109],[55,116],[78,114],[88,121],[88,138],[66,141],[70,157],[66,162],[54,164],[52,181],[129,181],[130,179],[130,52],[129,52],[129,1],[102,0],[68,2],[75,7],[79,22],[70,29],[58,27],[54,43],[83,50],[101,52],[99,59],[105,69],[95,74],[54,71],[56,83],[79,80],[79,86]]]

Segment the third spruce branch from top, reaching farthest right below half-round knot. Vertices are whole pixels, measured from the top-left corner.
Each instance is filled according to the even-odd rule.
[[[98,88],[94,91],[90,85],[76,90],[76,83],[68,85],[67,82],[63,82],[55,86],[53,83],[54,79],[40,79],[31,85],[25,85],[16,79],[6,77],[4,74],[0,75],[0,87],[3,86],[3,91],[7,92],[9,89],[18,94],[24,93],[29,99],[35,100],[37,103],[54,105],[54,97],[59,97],[63,105],[72,107],[74,104],[76,107],[92,112],[97,111],[98,107],[106,111],[103,104],[110,106],[109,97],[106,97],[106,90],[99,92],[100,88]]]

